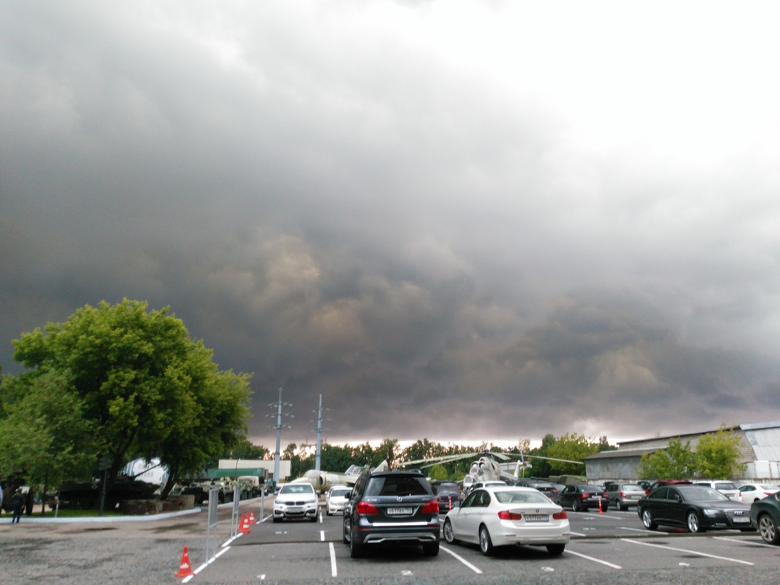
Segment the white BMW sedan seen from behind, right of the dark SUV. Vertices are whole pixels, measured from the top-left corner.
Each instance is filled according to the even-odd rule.
[[[483,555],[508,544],[546,546],[552,555],[560,555],[570,537],[564,509],[534,488],[497,485],[474,490],[444,521],[445,541],[479,544]]]

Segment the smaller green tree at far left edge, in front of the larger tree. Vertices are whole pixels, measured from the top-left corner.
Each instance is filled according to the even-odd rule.
[[[6,378],[0,419],[0,475],[20,475],[43,485],[90,477],[97,449],[94,425],[82,417],[83,401],[67,371]]]

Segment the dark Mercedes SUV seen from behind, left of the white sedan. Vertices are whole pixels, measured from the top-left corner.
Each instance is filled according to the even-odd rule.
[[[369,544],[422,543],[425,555],[438,555],[439,505],[421,471],[363,473],[344,506],[342,540],[350,556]]]

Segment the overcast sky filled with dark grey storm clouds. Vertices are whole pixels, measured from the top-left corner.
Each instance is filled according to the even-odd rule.
[[[776,3],[0,2],[0,363],[170,305],[311,441],[780,420]]]

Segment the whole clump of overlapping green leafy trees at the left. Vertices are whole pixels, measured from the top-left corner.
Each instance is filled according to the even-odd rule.
[[[168,308],[86,305],[13,340],[25,371],[0,382],[0,477],[58,486],[129,460],[168,467],[162,498],[226,449],[246,448],[249,374],[221,371]]]

